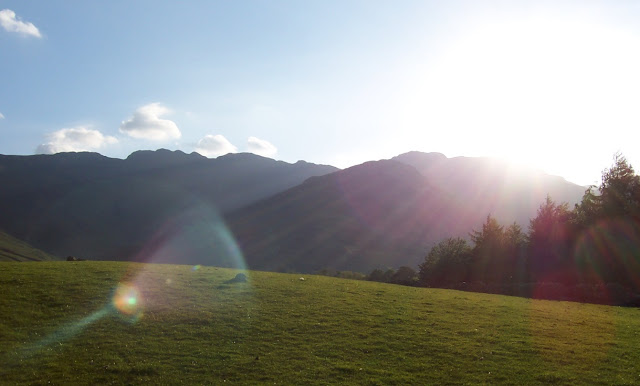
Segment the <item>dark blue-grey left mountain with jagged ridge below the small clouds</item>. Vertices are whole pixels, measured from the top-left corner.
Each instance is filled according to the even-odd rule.
[[[59,256],[135,260],[185,213],[212,217],[336,170],[248,153],[208,159],[164,149],[124,160],[0,155],[0,229]]]

